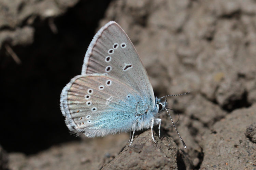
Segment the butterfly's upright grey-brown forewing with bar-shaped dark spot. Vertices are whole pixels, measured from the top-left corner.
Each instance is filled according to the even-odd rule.
[[[153,107],[155,97],[147,72],[124,30],[114,21],[103,26],[91,41],[82,75],[104,73],[136,90]]]

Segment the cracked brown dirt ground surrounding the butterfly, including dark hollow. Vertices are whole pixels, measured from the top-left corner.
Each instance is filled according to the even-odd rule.
[[[62,88],[110,20],[128,34],[155,96],[155,130],[69,133]],[[256,1],[0,0],[0,169],[256,169]],[[171,127],[169,127],[171,126]]]

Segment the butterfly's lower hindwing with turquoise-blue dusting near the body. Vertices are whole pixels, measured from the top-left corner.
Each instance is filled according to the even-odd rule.
[[[68,128],[87,137],[130,131],[136,114],[148,107],[136,90],[102,74],[78,75],[61,93],[61,110]]]

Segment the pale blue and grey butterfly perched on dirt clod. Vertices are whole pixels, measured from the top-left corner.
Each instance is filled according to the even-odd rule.
[[[167,111],[162,98],[155,98],[147,72],[127,34],[110,21],[91,41],[81,75],[63,88],[60,108],[70,131],[87,137],[132,131],[131,145],[135,131],[146,128],[151,128],[156,142],[156,124],[160,136],[161,119],[156,116]],[[174,123],[173,126],[178,133]],[[179,137],[186,148],[180,134]]]

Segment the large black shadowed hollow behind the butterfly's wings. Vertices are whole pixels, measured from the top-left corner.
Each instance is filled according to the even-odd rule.
[[[0,145],[6,151],[33,154],[60,142],[79,140],[65,125],[60,93],[81,73],[86,49],[109,2],[79,2],[54,18],[56,34],[50,30],[48,19],[37,18],[33,44],[12,47],[21,65],[0,52]]]

